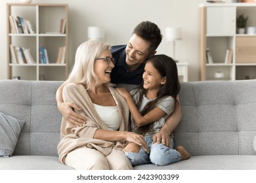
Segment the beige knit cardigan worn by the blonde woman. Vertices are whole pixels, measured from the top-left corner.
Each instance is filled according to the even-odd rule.
[[[129,108],[121,95],[112,87],[109,87],[110,92],[117,101],[117,107],[120,116],[119,131],[128,131],[129,124]],[[66,155],[81,146],[95,148],[104,156],[107,156],[112,151],[112,148],[122,149],[125,142],[108,142],[99,139],[93,139],[96,129],[109,130],[102,122],[93,103],[82,84],[66,84],[63,89],[64,102],[74,102],[81,110],[75,112],[85,116],[86,124],[81,127],[72,127],[63,117],[60,127],[60,142],[58,144],[58,155],[60,163],[65,162]]]

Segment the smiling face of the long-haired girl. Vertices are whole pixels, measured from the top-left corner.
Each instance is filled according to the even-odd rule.
[[[166,77],[161,76],[151,62],[146,63],[142,78],[144,80],[143,88],[146,90],[158,91],[166,82]]]

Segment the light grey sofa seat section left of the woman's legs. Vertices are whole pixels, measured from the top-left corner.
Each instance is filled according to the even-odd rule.
[[[12,156],[0,158],[0,170],[72,170],[56,156]]]

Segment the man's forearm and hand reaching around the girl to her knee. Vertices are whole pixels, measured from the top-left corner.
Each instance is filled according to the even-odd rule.
[[[177,96],[177,100],[179,101],[179,95]],[[182,112],[181,112],[181,103],[177,106],[176,110],[169,116],[161,128],[161,130],[153,136],[153,143],[158,142],[162,143],[165,146],[170,146],[169,135],[173,133],[179,122],[181,121]]]

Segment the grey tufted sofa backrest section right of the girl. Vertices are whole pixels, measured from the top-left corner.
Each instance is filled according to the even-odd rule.
[[[256,80],[181,83],[175,144],[192,156],[256,155]]]

